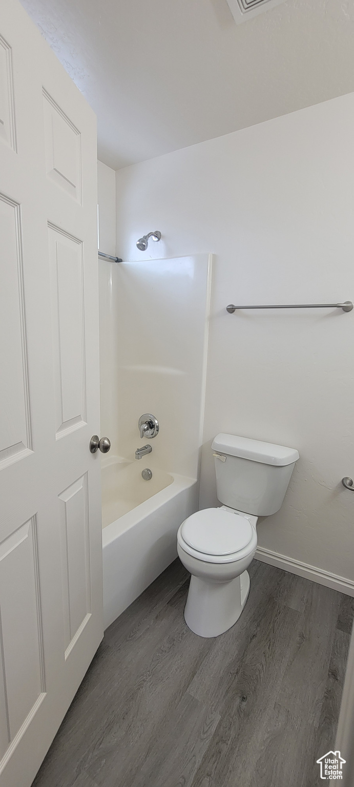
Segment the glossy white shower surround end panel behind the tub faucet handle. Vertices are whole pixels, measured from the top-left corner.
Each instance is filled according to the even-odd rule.
[[[138,262],[116,265],[112,276],[120,456],[135,461],[135,449],[149,443],[153,453],[142,468],[189,478],[197,478],[201,446],[210,262],[208,254],[169,260],[141,255]],[[157,418],[160,431],[142,442],[143,413]]]

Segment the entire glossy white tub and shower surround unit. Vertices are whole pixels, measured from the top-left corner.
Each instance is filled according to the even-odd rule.
[[[105,626],[175,560],[197,510],[211,268],[208,254],[100,263]],[[138,430],[146,412],[160,423],[152,440]]]

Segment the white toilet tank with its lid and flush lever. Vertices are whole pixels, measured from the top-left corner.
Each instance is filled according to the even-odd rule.
[[[296,449],[234,434],[217,434],[212,449],[220,503],[257,516],[279,510],[299,459]]]

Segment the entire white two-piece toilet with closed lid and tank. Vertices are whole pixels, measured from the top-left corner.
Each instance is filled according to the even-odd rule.
[[[240,617],[258,517],[279,510],[299,459],[296,449],[234,434],[217,434],[212,450],[222,505],[192,514],[177,534],[179,558],[191,574],[184,618],[200,637],[218,637]]]

